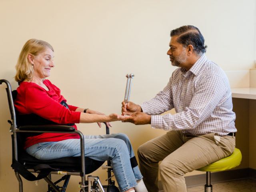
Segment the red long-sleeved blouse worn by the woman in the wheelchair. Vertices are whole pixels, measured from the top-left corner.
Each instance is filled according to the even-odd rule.
[[[60,104],[66,99],[60,94],[60,89],[49,80],[43,83],[49,91],[33,82],[21,82],[17,88],[17,98],[14,102],[19,114],[36,114],[57,124],[79,123],[81,112],[75,112],[76,106],[68,105],[69,109]],[[73,126],[77,129],[76,125]],[[79,139],[77,134],[43,133],[26,138],[24,148],[40,142],[62,141]]]

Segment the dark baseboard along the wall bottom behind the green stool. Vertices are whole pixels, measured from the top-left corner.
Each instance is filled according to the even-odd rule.
[[[240,180],[252,178],[256,180],[256,170],[252,168],[227,170],[222,172],[211,173],[211,183],[227,182],[232,180]],[[204,185],[206,183],[206,174],[185,176],[187,187]],[[162,182],[158,182],[159,192],[163,192]]]

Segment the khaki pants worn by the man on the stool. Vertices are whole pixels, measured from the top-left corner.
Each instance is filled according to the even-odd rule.
[[[235,137],[170,131],[138,149],[140,171],[149,192],[158,192],[158,169],[164,192],[186,192],[184,175],[232,154]],[[158,162],[162,161],[160,166]]]

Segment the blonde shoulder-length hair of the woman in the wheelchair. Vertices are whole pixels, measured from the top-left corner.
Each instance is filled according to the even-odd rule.
[[[28,54],[37,56],[38,54],[44,52],[46,48],[50,48],[52,51],[54,51],[48,42],[38,39],[30,39],[24,44],[20,52],[18,62],[15,66],[17,71],[15,80],[17,82],[22,82],[24,80],[30,81],[34,74],[33,65],[28,60]]]

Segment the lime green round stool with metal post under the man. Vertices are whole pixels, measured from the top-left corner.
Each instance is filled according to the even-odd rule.
[[[211,171],[224,171],[232,169],[240,165],[241,160],[242,154],[239,149],[235,148],[234,152],[230,156],[197,169],[198,171],[206,171],[206,184],[204,185],[204,192],[212,192]]]

